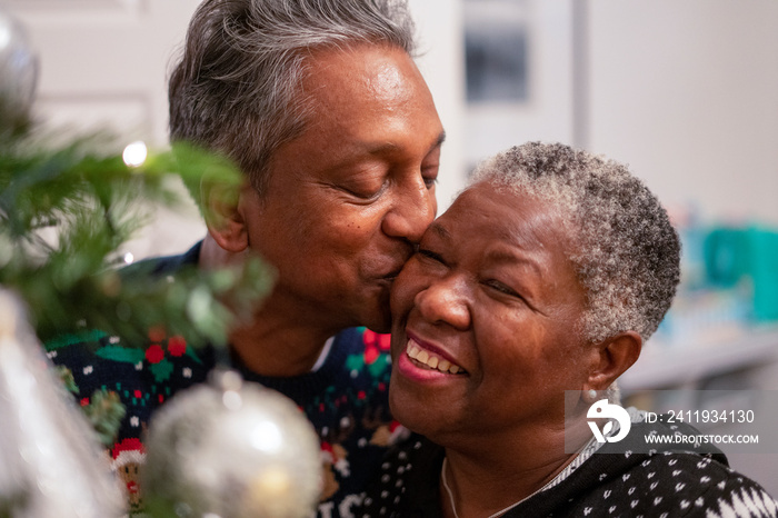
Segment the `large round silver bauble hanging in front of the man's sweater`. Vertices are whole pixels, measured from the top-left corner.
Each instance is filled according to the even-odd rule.
[[[319,440],[286,396],[217,369],[154,416],[141,471],[152,515],[301,518],[321,491]]]

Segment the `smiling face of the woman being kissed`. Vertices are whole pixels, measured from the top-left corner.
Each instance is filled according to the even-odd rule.
[[[595,361],[560,217],[479,183],[426,231],[395,281],[390,402],[446,446],[556,427]],[[519,428],[517,428],[519,427]]]

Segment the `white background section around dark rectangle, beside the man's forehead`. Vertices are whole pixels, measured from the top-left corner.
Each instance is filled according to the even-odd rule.
[[[499,8],[478,0],[476,9]],[[573,138],[573,0],[521,0],[530,38],[526,102],[468,106],[465,92],[465,12],[461,0],[410,0],[422,56],[417,60],[447,132],[438,183],[438,213],[465,187],[478,161],[527,140]]]

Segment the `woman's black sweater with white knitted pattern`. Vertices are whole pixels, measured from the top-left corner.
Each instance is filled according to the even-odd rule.
[[[699,434],[682,424],[648,424],[630,409],[630,435],[619,444],[589,442],[572,462],[500,518],[776,518],[778,501],[759,484],[729,468],[709,445],[645,449],[648,435]],[[630,442],[632,441],[632,442]],[[618,446],[617,446],[618,445]],[[362,518],[441,518],[445,449],[425,438],[389,450],[367,490]]]

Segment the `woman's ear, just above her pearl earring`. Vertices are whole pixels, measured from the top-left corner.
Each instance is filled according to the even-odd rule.
[[[584,386],[584,390],[605,390],[640,357],[642,338],[635,331],[626,331],[610,337],[596,348],[595,368]]]

